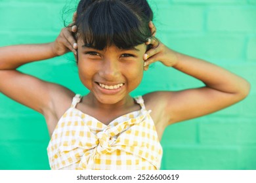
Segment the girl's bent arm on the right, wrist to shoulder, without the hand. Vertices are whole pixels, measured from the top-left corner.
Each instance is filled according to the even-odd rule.
[[[215,112],[241,101],[248,95],[250,86],[244,78],[202,59],[177,55],[179,61],[173,67],[198,78],[205,87],[173,93],[170,102],[175,102],[177,106],[169,107],[173,111],[170,123]]]

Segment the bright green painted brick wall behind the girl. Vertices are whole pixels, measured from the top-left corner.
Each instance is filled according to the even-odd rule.
[[[53,41],[71,0],[0,0],[0,46]],[[256,169],[256,0],[151,0],[157,37],[184,54],[221,65],[251,83],[244,101],[167,127],[161,169]],[[30,75],[85,94],[72,54],[24,65]],[[5,78],[0,78],[5,79]],[[202,82],[154,64],[133,95]],[[0,93],[0,169],[49,169],[43,116]]]

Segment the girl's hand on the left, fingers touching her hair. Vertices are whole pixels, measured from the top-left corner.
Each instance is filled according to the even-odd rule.
[[[77,13],[75,12],[73,15],[73,22],[75,22],[77,18]],[[58,37],[54,42],[52,42],[52,49],[53,53],[56,56],[62,56],[63,54],[66,54],[67,52],[72,51],[75,56],[77,54],[77,42],[75,41],[74,36],[72,33],[75,33],[77,31],[76,25],[73,25],[70,27],[64,27],[61,31]]]

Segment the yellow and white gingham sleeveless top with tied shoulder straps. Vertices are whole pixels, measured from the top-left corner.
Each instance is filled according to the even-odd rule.
[[[47,147],[51,169],[160,169],[162,147],[142,97],[141,109],[105,125],[75,106],[60,118]]]

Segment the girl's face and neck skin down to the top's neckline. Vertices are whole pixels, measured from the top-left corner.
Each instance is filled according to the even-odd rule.
[[[135,90],[142,80],[146,44],[136,46],[136,50],[121,50],[114,45],[104,50],[96,50],[83,46],[84,43],[80,40],[77,45],[79,77],[90,90],[89,94],[83,97],[83,105],[77,108],[95,116],[104,124],[109,124],[117,116],[139,110],[140,106],[129,93]],[[123,86],[117,92],[110,93],[110,90],[102,89],[99,83]]]

